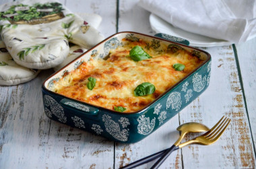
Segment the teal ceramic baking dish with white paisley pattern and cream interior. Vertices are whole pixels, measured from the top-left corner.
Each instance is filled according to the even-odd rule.
[[[46,116],[54,121],[123,143],[135,143],[156,131],[172,116],[195,100],[209,86],[211,71],[209,53],[185,45],[187,41],[182,41],[180,38],[173,38],[166,34],[158,34],[157,36],[148,36],[136,32],[119,32],[106,38],[51,75],[42,83],[42,97]],[[77,69],[83,61],[88,61],[90,57],[103,59],[108,55],[110,49],[122,46],[123,38],[129,38],[129,40],[142,39],[149,46],[159,51],[166,50],[166,47],[168,50],[173,51],[184,49],[194,57],[199,57],[199,59],[203,60],[203,64],[164,92],[164,94],[158,96],[154,102],[137,112],[116,112],[67,98],[51,90],[55,81]],[[183,44],[173,42],[173,40]]]

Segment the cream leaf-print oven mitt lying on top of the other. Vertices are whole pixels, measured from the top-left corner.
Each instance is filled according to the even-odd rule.
[[[0,11],[8,11],[12,5],[18,4],[31,7],[36,3],[55,2],[57,1],[15,1],[1,5]],[[15,15],[11,16],[12,14],[5,13],[1,15],[1,38],[16,63],[32,69],[49,69],[63,63],[67,55],[69,55],[68,42],[79,44],[79,46],[84,48],[91,48],[104,39],[100,32],[88,22],[84,21],[78,15],[71,13],[63,5],[62,8],[61,13],[63,13],[64,18],[43,24],[11,23],[9,20],[4,20],[4,18],[15,17]],[[19,11],[24,12],[28,10],[26,7],[24,9],[20,11],[18,8],[14,12],[17,13],[16,15],[19,15]],[[44,18],[40,19],[44,20]]]

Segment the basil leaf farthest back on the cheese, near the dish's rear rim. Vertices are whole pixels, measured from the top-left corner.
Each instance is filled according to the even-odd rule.
[[[150,59],[150,55],[146,53],[141,46],[135,46],[130,50],[130,57],[133,61],[142,61],[145,59]]]

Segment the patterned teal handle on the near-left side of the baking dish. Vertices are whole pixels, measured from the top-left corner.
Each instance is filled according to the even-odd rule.
[[[88,115],[97,115],[98,114],[98,108],[94,108],[88,105],[85,105],[83,103],[80,102],[75,102],[73,100],[69,100],[67,98],[63,98],[60,102],[61,106],[69,108],[73,111],[79,111],[82,112],[84,114],[88,114]]]

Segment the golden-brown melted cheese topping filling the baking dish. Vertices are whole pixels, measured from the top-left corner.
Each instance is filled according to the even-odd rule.
[[[75,71],[55,83],[55,92],[97,106],[114,110],[114,106],[126,108],[125,112],[141,110],[160,94],[179,82],[203,61],[185,50],[178,53],[159,53],[144,48],[145,42],[127,42],[124,47],[110,50],[108,59],[84,62]],[[152,58],[133,61],[129,51],[140,45]],[[172,65],[185,65],[183,71],[176,71]],[[88,77],[96,78],[96,86],[88,90]],[[154,94],[135,96],[133,91],[143,83],[150,82],[156,87]]]

